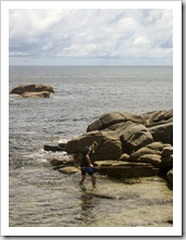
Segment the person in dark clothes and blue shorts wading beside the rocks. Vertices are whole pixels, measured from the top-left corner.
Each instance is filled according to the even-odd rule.
[[[82,170],[82,179],[79,181],[79,186],[83,186],[86,179],[86,173],[91,177],[92,188],[96,188],[96,176],[95,176],[95,168],[91,164],[90,156],[98,148],[98,143],[96,141],[92,142],[90,147],[85,147],[82,152],[82,161],[80,161],[80,170]]]

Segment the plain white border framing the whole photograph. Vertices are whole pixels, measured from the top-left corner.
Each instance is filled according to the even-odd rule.
[[[173,227],[9,227],[9,9],[59,8],[173,10]],[[1,1],[1,111],[2,236],[182,236],[182,1]]]

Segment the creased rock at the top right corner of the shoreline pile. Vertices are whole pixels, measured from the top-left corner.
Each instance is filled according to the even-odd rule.
[[[153,111],[141,114],[147,127],[173,123],[173,110]]]

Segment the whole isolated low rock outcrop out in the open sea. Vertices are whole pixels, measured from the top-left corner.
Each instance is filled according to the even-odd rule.
[[[10,94],[18,94],[23,98],[50,98],[53,92],[51,85],[29,84],[18,85],[11,90]]]

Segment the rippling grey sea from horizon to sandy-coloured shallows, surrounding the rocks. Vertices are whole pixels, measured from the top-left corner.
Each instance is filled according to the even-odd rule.
[[[10,226],[170,226],[172,191],[163,179],[127,185],[98,175],[98,192],[122,198],[90,198],[78,188],[79,174],[53,170],[50,161],[62,153],[44,146],[84,134],[107,112],[172,109],[172,66],[10,66],[10,91],[33,83],[51,84],[55,93],[10,96]]]

